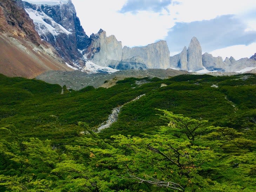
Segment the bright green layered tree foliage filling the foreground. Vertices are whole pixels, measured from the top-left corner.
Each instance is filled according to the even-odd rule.
[[[49,140],[1,142],[1,191],[254,190],[256,142],[246,133],[160,112],[165,125],[141,137],[101,139],[79,122],[88,135],[65,153]]]

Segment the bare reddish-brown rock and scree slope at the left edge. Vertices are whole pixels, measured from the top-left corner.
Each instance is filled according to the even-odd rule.
[[[72,70],[42,42],[20,0],[0,0],[0,73],[34,78],[48,70]]]

